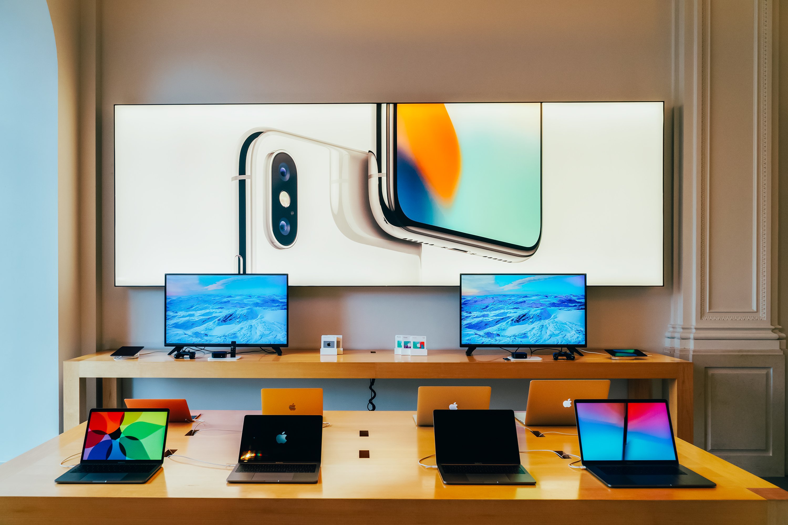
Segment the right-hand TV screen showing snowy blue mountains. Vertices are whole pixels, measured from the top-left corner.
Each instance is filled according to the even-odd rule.
[[[585,345],[585,275],[461,275],[463,345]]]

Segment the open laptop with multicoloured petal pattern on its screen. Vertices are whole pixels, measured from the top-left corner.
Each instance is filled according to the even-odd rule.
[[[56,483],[144,483],[162,467],[168,409],[91,409],[80,464]]]

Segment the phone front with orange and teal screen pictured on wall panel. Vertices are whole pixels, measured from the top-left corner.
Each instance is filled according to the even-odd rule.
[[[385,130],[386,174],[370,174],[385,231],[498,261],[536,252],[540,103],[387,104]]]

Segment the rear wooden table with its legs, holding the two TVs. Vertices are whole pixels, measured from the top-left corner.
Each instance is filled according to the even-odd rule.
[[[144,349],[143,353],[152,352]],[[63,363],[63,428],[80,423],[84,414],[84,378],[104,378],[104,406],[118,406],[117,378],[331,378],[331,379],[630,379],[630,397],[651,397],[651,379],[667,379],[668,401],[676,435],[693,438],[692,363],[652,354],[636,360],[611,360],[585,353],[574,361],[507,363],[503,350],[429,350],[429,356],[397,356],[393,350],[345,350],[341,356],[321,356],[317,350],[283,349],[284,355],[245,353],[226,363],[173,360],[165,352],[136,360],[113,360],[110,350]],[[601,350],[593,350],[600,352]],[[122,405],[120,405],[122,406]],[[82,418],[84,420],[84,416]]]

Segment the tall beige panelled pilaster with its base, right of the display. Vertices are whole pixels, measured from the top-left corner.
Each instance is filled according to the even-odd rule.
[[[665,352],[694,364],[695,445],[757,475],[784,475],[785,335],[771,300],[776,6],[674,6],[674,287]]]

